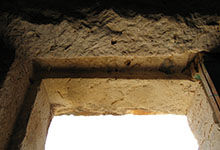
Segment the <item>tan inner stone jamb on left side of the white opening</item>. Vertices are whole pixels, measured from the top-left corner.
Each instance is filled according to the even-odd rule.
[[[52,114],[44,84],[40,86],[20,150],[43,150]]]

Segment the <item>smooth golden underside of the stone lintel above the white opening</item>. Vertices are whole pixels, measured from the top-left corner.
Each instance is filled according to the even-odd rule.
[[[197,82],[176,79],[45,79],[55,115],[149,114],[185,115]],[[144,113],[143,113],[144,114]]]

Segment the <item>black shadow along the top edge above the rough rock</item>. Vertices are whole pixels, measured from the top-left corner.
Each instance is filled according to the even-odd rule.
[[[36,24],[57,24],[66,19],[66,16],[83,19],[88,15],[96,15],[104,9],[113,9],[124,17],[140,14],[154,20],[160,19],[163,15],[173,16],[179,20],[179,15],[192,17],[195,13],[197,15],[193,17],[199,18],[202,15],[205,24],[218,25],[216,16],[220,15],[219,6],[218,0],[5,0],[0,2],[2,11],[9,11]],[[45,10],[56,13],[44,13]],[[210,16],[213,17],[210,19]],[[187,19],[185,21],[189,25],[192,24]]]

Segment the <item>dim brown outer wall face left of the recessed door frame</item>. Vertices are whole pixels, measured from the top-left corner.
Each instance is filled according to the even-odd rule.
[[[15,60],[0,89],[0,149],[6,149],[30,85],[32,62]]]

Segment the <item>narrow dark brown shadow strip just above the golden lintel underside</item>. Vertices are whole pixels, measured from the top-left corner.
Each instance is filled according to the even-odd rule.
[[[114,78],[114,79],[164,79],[164,80],[190,80],[187,74],[173,73],[166,74],[159,71],[92,71],[92,70],[70,70],[55,69],[50,71],[40,71],[39,76],[47,78]]]

